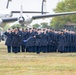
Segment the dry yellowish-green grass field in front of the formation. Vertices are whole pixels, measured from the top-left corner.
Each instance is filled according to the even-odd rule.
[[[0,75],[76,75],[76,53],[7,53],[0,42]]]

